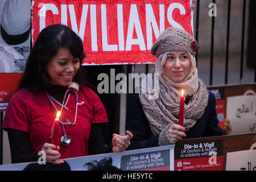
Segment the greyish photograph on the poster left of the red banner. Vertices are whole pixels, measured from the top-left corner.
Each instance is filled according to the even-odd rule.
[[[0,73],[23,73],[30,54],[31,0],[1,0],[0,24]]]

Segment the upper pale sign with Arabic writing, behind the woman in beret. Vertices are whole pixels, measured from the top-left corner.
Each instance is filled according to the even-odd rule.
[[[255,132],[256,96],[228,97],[226,118],[230,120],[232,135]]]

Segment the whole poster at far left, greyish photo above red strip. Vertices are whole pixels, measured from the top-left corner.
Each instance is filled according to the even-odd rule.
[[[0,111],[18,88],[30,55],[31,1],[0,1]]]

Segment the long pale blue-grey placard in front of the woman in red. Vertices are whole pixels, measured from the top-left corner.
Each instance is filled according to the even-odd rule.
[[[105,170],[140,171],[151,169],[174,171],[174,145],[69,158],[64,159],[65,164],[63,165],[44,164],[41,159],[38,162],[32,163],[0,165],[0,171],[23,171],[24,169],[89,171],[90,168],[87,165],[89,163],[94,164],[94,166],[100,169],[102,169],[102,166],[105,166]],[[101,164],[97,165],[97,163]],[[146,164],[146,167],[143,164]]]

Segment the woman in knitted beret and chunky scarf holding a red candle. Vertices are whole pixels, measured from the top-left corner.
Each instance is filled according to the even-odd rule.
[[[222,135],[215,97],[197,75],[198,49],[193,36],[175,27],[167,28],[156,39],[151,53],[157,57],[152,80],[159,80],[158,97],[143,92],[145,80],[139,86],[139,93],[130,94],[126,113],[126,130],[134,135],[130,150],[175,144],[183,138]],[[155,88],[154,84],[157,82],[151,88]],[[182,89],[184,127],[178,125]]]

